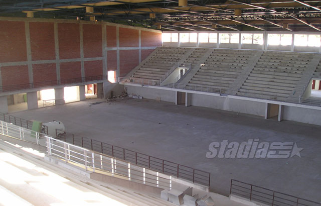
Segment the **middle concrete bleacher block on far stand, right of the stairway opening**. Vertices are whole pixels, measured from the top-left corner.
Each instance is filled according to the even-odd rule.
[[[224,93],[254,53],[250,50],[213,49],[188,85],[219,88]]]

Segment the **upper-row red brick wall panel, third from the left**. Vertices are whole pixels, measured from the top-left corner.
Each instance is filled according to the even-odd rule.
[[[79,24],[58,24],[58,42],[60,59],[80,58],[79,32]]]

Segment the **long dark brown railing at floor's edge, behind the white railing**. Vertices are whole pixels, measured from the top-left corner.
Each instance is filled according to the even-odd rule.
[[[211,173],[56,129],[57,138],[177,178],[210,186]]]

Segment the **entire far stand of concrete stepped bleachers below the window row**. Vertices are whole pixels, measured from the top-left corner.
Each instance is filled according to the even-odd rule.
[[[180,63],[192,68],[179,82],[185,88],[298,102],[308,79],[321,78],[318,61],[303,52],[158,47],[130,77],[162,81]]]

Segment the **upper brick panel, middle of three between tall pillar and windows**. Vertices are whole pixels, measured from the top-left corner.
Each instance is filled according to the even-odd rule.
[[[119,28],[119,46],[120,47],[138,47],[138,30]]]

